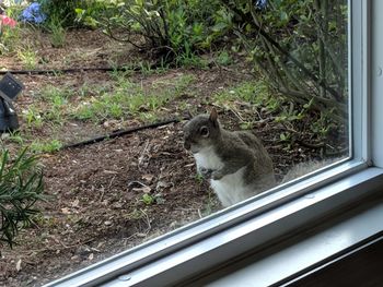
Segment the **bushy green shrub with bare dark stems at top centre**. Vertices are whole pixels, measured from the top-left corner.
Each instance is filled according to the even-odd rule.
[[[113,38],[150,49],[166,61],[211,48],[231,26],[219,0],[117,0],[100,21]],[[117,14],[116,14],[117,12]],[[140,45],[143,39],[143,45]]]

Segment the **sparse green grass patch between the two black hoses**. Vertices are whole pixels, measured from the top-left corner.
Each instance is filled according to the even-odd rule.
[[[34,103],[20,112],[21,131],[8,136],[4,143],[30,146],[34,153],[53,153],[65,144],[55,134],[60,134],[73,121],[94,125],[127,119],[155,122],[166,112],[166,105],[187,93],[196,77],[182,74],[148,79],[143,85],[131,82],[128,72],[114,72],[112,80],[100,85],[84,83],[78,88],[65,84],[42,87],[35,92]]]

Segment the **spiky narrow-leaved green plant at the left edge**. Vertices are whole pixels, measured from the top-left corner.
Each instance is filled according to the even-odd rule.
[[[34,204],[43,200],[43,174],[36,168],[36,160],[26,150],[14,160],[8,151],[0,155],[0,241],[11,247],[18,231],[38,213]]]

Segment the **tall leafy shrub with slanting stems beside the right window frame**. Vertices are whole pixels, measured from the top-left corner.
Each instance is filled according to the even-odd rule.
[[[347,1],[222,0],[256,69],[295,104],[347,118]]]

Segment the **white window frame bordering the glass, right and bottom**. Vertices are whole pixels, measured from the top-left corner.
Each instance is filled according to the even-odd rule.
[[[383,1],[349,0],[349,159],[46,286],[173,286],[363,202],[383,187]]]

